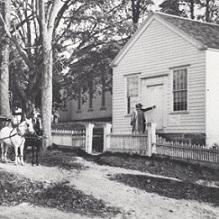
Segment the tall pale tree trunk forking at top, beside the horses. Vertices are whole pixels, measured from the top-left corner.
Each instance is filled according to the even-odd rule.
[[[52,6],[45,13],[46,0],[39,0],[40,23],[43,41],[43,71],[42,71],[42,126],[43,126],[43,149],[52,144],[52,76],[53,76],[53,52],[52,52],[52,37],[55,26],[56,16],[64,5],[63,1],[54,0]],[[47,18],[47,19],[46,19]]]

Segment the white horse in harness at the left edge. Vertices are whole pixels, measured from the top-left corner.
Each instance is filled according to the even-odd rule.
[[[35,132],[32,119],[26,119],[20,123],[16,128],[6,126],[0,131],[1,142],[1,158],[3,162],[7,162],[8,147],[12,146],[15,149],[15,164],[20,163],[24,165],[24,143],[25,135],[27,133],[33,134]],[[20,155],[18,154],[20,148]]]

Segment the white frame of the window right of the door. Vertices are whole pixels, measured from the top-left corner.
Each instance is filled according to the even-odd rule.
[[[172,112],[174,112],[174,113],[183,113],[183,112],[188,112],[188,110],[189,110],[189,102],[188,102],[188,100],[189,100],[189,68],[188,68],[188,66],[180,66],[180,67],[175,67],[175,68],[172,68],[171,69],[172,70],[172,83],[171,83],[171,85],[172,85],[172,87],[171,87],[171,89],[172,89],[172,98],[171,98],[171,103],[172,103]],[[182,89],[178,89],[178,90],[174,90],[174,73],[176,72],[176,71],[180,71],[180,70],[186,70],[186,88],[182,88]],[[175,107],[174,107],[174,93],[176,93],[176,92],[181,92],[181,91],[186,91],[186,108],[185,109],[175,109]]]

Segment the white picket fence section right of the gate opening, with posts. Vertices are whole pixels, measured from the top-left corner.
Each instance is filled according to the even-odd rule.
[[[219,163],[219,148],[167,142],[156,136],[156,124],[147,124],[147,134],[112,133],[111,125],[104,129],[104,150],[112,152],[152,154]]]

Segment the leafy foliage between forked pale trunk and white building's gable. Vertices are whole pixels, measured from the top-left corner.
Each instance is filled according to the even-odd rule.
[[[136,30],[141,16],[148,12],[152,1],[88,1],[72,5],[66,11],[60,40],[63,55],[70,57],[64,76],[70,98],[82,94],[111,90],[110,63]],[[60,37],[57,37],[60,38]],[[84,95],[83,100],[86,101]]]

